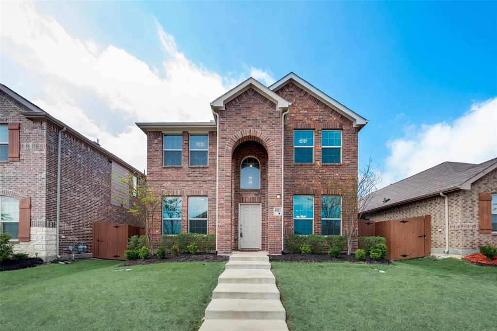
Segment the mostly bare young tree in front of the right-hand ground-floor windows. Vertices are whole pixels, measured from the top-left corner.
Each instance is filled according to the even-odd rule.
[[[369,202],[376,193],[376,185],[382,178],[383,172],[379,167],[372,165],[373,160],[369,158],[368,163],[358,171],[358,177],[338,175],[331,183],[335,194],[341,199],[332,201],[333,207],[338,209],[342,219],[342,233],[347,237],[347,254],[352,253],[352,243],[357,236],[357,220],[362,217]]]

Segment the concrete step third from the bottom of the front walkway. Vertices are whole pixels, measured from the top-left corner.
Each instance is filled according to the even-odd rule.
[[[221,283],[212,292],[213,299],[274,299],[279,291],[274,284],[228,284]]]

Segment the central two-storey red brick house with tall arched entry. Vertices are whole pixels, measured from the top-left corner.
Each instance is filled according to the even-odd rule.
[[[269,87],[250,78],[211,109],[211,122],[137,123],[148,138],[147,182],[165,196],[156,243],[210,233],[220,254],[276,254],[283,234],[341,233],[333,182],[356,180],[366,119],[293,73]]]

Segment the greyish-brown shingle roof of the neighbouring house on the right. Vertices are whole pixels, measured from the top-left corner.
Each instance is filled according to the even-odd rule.
[[[461,189],[497,168],[497,158],[481,164],[444,162],[377,190],[365,213]],[[390,199],[387,202],[383,202]]]

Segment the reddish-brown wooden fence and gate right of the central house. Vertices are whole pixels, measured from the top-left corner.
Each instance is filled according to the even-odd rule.
[[[364,236],[385,237],[389,260],[426,256],[431,250],[431,216],[384,222],[359,220],[359,237]]]

